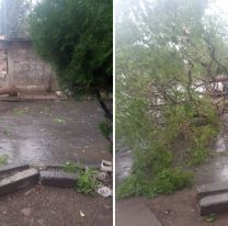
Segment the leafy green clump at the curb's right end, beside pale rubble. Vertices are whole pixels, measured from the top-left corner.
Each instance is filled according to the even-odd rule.
[[[90,168],[81,171],[77,182],[77,191],[84,194],[93,194],[99,185],[96,174],[98,171]]]

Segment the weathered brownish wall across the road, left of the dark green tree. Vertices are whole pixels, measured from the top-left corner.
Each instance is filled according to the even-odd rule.
[[[22,41],[0,43],[0,86],[9,83],[29,91],[57,89],[50,67],[36,56],[30,42]]]

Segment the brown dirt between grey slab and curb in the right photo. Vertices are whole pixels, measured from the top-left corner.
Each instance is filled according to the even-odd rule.
[[[218,215],[214,223],[200,216],[194,190],[183,190],[172,195],[147,200],[147,206],[163,226],[227,226],[228,215]]]

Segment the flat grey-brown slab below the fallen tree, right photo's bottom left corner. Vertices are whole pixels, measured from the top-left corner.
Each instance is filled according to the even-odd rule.
[[[139,199],[116,203],[116,226],[161,226],[156,215]]]

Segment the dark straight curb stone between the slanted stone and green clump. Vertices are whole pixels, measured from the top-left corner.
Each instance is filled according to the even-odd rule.
[[[43,185],[73,188],[78,176],[64,171],[41,171],[41,182]]]

